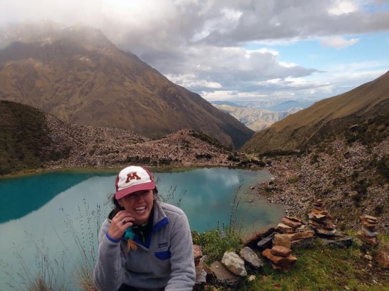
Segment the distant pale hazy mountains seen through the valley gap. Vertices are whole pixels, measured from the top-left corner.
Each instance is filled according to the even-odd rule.
[[[229,105],[217,105],[214,104],[217,109],[234,116],[248,128],[259,131],[271,124],[284,119],[290,114],[300,111],[302,108],[293,107],[286,111],[270,111],[259,108],[244,108]]]

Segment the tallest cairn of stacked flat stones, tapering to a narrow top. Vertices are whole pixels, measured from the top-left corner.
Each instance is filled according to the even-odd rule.
[[[332,216],[324,208],[324,203],[318,199],[314,203],[312,212],[308,214],[309,226],[319,235],[336,236],[335,225],[332,223]]]

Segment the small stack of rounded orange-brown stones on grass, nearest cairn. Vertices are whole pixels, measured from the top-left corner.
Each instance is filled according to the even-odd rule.
[[[291,249],[282,246],[274,246],[262,252],[262,255],[271,262],[271,266],[275,270],[283,272],[288,272],[297,261],[297,258],[291,254]]]

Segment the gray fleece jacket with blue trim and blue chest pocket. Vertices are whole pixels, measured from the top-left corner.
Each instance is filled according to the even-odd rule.
[[[193,244],[184,212],[170,204],[154,202],[151,234],[137,250],[124,254],[127,241],[107,236],[106,219],[99,233],[99,252],[93,273],[101,291],[116,291],[124,283],[140,290],[189,291],[195,284]]]

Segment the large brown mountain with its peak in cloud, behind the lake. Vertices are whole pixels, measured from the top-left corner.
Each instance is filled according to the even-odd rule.
[[[0,100],[32,105],[70,123],[149,138],[191,128],[238,148],[253,134],[118,49],[100,30],[44,21],[14,25],[0,35]]]

